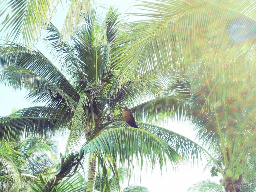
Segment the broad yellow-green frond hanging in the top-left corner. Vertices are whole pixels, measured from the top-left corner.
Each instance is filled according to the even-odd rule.
[[[1,0],[0,15],[6,15],[1,24],[0,32],[4,32],[6,40],[17,41],[21,37],[25,44],[34,46],[41,27],[46,27],[50,22],[57,1],[54,0]],[[33,18],[33,19],[31,19]]]

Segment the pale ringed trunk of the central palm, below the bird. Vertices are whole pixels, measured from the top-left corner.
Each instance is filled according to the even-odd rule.
[[[94,154],[91,154],[86,192],[93,192],[94,190],[95,179],[96,179],[96,164],[97,164],[97,158],[94,157]]]

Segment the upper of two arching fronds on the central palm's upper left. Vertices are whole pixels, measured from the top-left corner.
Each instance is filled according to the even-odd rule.
[[[74,101],[79,99],[79,95],[74,90],[73,86],[66,79],[66,77],[39,51],[26,50],[26,47],[22,45],[11,45],[10,47],[3,47],[0,51],[0,66],[17,65],[24,69],[31,71],[33,74],[42,77],[46,81],[52,83],[55,87],[61,89]],[[49,90],[48,90],[49,92]],[[49,94],[48,94],[49,95]],[[34,97],[35,95],[29,95],[28,97]],[[46,97],[46,95],[45,95]],[[50,98],[38,98],[35,102],[45,102]],[[63,102],[53,99],[49,106],[62,106]],[[54,104],[53,104],[54,103]]]

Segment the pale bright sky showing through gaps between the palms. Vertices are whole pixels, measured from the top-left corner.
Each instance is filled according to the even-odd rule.
[[[132,0],[98,0],[97,3],[100,7],[99,9],[102,10],[104,10],[104,7],[109,7],[110,5],[113,5],[115,8],[118,8],[120,13],[124,13],[124,16],[127,13],[134,13],[137,10],[136,7],[131,7],[132,5],[135,5],[135,1]],[[66,13],[67,6],[65,6],[64,4],[64,7],[60,7],[55,16],[53,17],[52,22],[59,29],[61,29],[63,25]],[[136,18],[126,17],[126,19],[128,19],[129,21],[134,21],[136,19],[140,20],[141,18],[138,16]],[[39,49],[47,58],[52,58],[42,42],[35,47]],[[58,62],[54,61],[53,59],[50,60],[57,65]],[[24,90],[15,91],[10,87],[6,87],[4,84],[0,84],[0,93],[0,116],[8,115],[14,109],[22,109],[24,107],[33,106],[29,101],[24,99],[27,94]],[[192,131],[193,127],[191,127],[189,124],[170,122],[169,125],[166,126],[166,128],[182,134],[185,137],[192,139],[193,141],[196,141],[195,132]],[[58,141],[61,148],[60,150],[62,153],[64,153],[63,146],[65,145],[64,143],[62,143],[63,139],[59,138]],[[129,184],[146,186],[151,192],[185,192],[190,186],[204,179],[210,179],[211,181],[215,182],[219,181],[220,177],[211,177],[210,169],[203,171],[206,164],[207,160],[203,159],[202,163],[199,163],[198,165],[192,165],[192,163],[189,163],[187,165],[180,165],[179,169],[174,171],[171,167],[171,164],[168,163],[167,168],[163,171],[163,173],[160,172],[158,167],[153,172],[151,172],[151,169],[149,169],[149,167],[143,168],[141,175],[139,174],[139,171],[138,174],[137,171],[135,171],[136,174],[133,174]]]

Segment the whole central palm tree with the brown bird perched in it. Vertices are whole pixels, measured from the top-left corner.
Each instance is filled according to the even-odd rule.
[[[186,100],[175,95],[166,97],[163,81],[147,71],[137,71],[139,79],[119,83],[119,70],[123,68],[112,60],[122,47],[115,41],[123,28],[116,10],[110,8],[102,19],[91,6],[71,41],[61,42],[63,46],[58,44],[61,33],[52,23],[47,30],[45,40],[56,51],[64,73],[39,51],[22,45],[2,48],[0,81],[16,89],[25,88],[27,98],[45,106],[2,117],[1,140],[13,141],[31,132],[50,136],[68,127],[66,152],[79,148],[83,139],[90,151],[86,191],[94,190],[97,161],[102,170],[111,167],[114,173],[118,163],[131,168],[134,158],[141,166],[146,158],[152,167],[159,164],[161,168],[167,159],[177,166],[180,156],[198,161],[203,151],[200,146],[154,125],[170,118],[191,118]],[[121,119],[121,106],[131,109],[139,129],[127,127]]]

